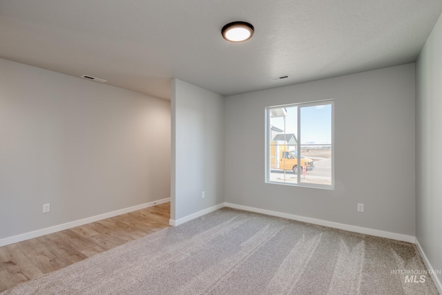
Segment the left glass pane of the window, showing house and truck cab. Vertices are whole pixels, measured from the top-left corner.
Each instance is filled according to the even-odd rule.
[[[268,181],[298,183],[298,106],[269,108]]]

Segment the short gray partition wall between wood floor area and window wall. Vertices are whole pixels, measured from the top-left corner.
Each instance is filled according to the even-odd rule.
[[[178,220],[224,202],[224,98],[173,79],[171,99],[171,219]]]

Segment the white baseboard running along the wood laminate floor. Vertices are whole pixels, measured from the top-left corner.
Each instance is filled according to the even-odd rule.
[[[30,231],[26,234],[19,234],[17,236],[12,236],[12,237],[8,237],[8,238],[2,238],[0,239],[0,247],[6,246],[6,245],[10,245],[10,244],[14,244],[15,242],[21,242],[23,240],[29,240],[30,238],[37,238],[39,236],[44,236],[47,234],[52,234],[55,233],[57,231],[64,231],[65,229],[72,229],[73,227],[79,227],[80,225],[86,225],[90,222],[95,222],[98,220],[103,220],[106,218],[111,218],[114,216],[118,216],[118,215],[122,215],[124,213],[129,213],[132,211],[137,211],[140,209],[144,209],[144,208],[148,208],[148,207],[153,207],[156,206],[157,204],[163,204],[165,202],[170,202],[171,198],[165,198],[162,200],[157,200],[157,201],[153,201],[153,202],[148,202],[145,204],[140,204],[137,206],[133,206],[133,207],[129,207],[129,208],[125,208],[125,209],[120,209],[117,211],[112,211],[112,212],[108,212],[108,213],[104,213],[104,214],[100,214],[97,216],[92,216],[92,217],[88,217],[88,218],[84,218],[81,220],[75,220],[72,222],[67,222],[64,223],[62,225],[55,225],[53,227],[47,227],[46,229],[38,229],[37,231]]]

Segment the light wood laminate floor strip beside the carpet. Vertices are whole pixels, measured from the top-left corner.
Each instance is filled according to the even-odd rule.
[[[0,292],[169,227],[170,203],[0,247]]]

